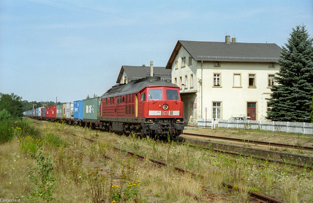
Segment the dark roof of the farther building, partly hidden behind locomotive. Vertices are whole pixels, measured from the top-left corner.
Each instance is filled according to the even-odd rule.
[[[123,72],[126,73],[129,81],[138,80],[150,76],[150,66],[122,65],[116,83],[120,82]],[[165,67],[153,66],[153,75],[160,76],[165,81],[171,82],[172,80],[171,70],[165,69]]]

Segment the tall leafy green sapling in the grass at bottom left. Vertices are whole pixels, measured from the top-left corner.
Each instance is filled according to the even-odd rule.
[[[53,192],[57,179],[54,177],[49,155],[45,157],[40,148],[37,154],[32,154],[32,157],[36,160],[37,167],[29,172],[29,179],[35,183],[36,188],[33,188],[33,191],[26,198],[31,202],[37,202],[39,199],[42,202],[49,202],[56,199],[53,197]]]

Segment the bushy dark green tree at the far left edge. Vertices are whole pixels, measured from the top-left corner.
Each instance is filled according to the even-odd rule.
[[[13,117],[20,117],[23,113],[22,97],[11,93],[0,93],[0,111],[6,109]]]

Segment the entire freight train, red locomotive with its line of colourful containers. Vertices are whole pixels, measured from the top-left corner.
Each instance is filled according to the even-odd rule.
[[[136,134],[170,136],[184,129],[179,87],[160,77],[146,77],[110,88],[101,97],[24,112],[28,117]]]

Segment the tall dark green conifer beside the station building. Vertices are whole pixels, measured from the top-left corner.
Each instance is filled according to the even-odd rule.
[[[313,46],[304,25],[290,33],[288,44],[283,46],[268,99],[272,107],[268,119],[273,121],[310,122],[310,105],[313,95]]]

